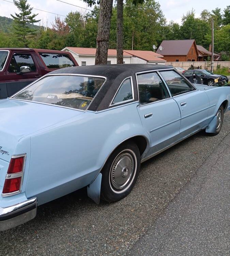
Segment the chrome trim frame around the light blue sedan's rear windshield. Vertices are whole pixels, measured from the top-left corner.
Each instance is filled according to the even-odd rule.
[[[66,109],[72,109],[72,110],[78,110],[78,111],[82,111],[82,112],[86,112],[89,108],[89,106],[91,105],[92,101],[90,102],[89,106],[87,107],[86,110],[81,110],[81,109],[75,109],[75,108],[70,108],[70,107],[66,107],[66,106],[60,106],[60,105],[55,105],[55,104],[49,104],[49,103],[44,103],[44,102],[38,102],[38,101],[32,101],[32,100],[23,100],[23,99],[14,99],[13,97],[15,97],[16,95],[18,95],[21,91],[25,90],[26,88],[30,87],[31,85],[33,85],[34,83],[38,82],[39,80],[43,79],[46,76],[56,76],[56,75],[76,75],[76,76],[87,76],[87,77],[98,77],[98,78],[103,78],[105,79],[104,83],[102,84],[102,86],[100,87],[100,89],[97,91],[97,93],[95,94],[95,96],[93,97],[92,101],[95,99],[95,97],[97,96],[97,94],[99,93],[99,91],[101,90],[101,88],[103,87],[103,85],[106,83],[107,81],[107,77],[106,76],[101,76],[101,75],[86,75],[86,74],[73,74],[73,73],[63,73],[63,74],[46,74],[42,77],[40,77],[39,79],[35,80],[34,82],[32,82],[31,84],[27,85],[26,87],[22,88],[20,91],[17,91],[17,93],[13,94],[11,97],[9,97],[9,99],[11,100],[21,100],[21,101],[27,101],[27,102],[34,102],[34,103],[39,103],[39,104],[45,104],[45,105],[50,105],[50,106],[59,106],[61,108],[66,108]]]

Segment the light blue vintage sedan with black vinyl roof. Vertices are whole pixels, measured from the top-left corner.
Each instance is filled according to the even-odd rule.
[[[96,203],[124,198],[141,162],[202,129],[218,134],[228,110],[230,87],[195,86],[170,66],[41,77],[0,100],[0,230],[85,186]]]

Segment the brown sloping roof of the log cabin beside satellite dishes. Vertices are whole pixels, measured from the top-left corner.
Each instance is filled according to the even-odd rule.
[[[162,43],[160,44],[160,46],[163,47],[163,50],[160,51],[158,47],[156,52],[162,55],[187,55],[194,41],[194,39],[163,40]]]

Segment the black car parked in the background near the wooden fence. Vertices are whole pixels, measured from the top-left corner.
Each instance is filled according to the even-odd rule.
[[[194,69],[194,70],[187,70],[184,72],[184,76],[189,79],[193,74],[200,76],[203,80],[203,83],[209,86],[215,85],[215,79],[218,79],[218,83],[223,83],[226,81],[228,83],[228,77],[226,75],[216,75],[213,74],[211,71],[206,69]]]

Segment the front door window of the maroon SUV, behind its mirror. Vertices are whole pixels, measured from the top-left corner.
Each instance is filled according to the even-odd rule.
[[[32,72],[36,71],[31,54],[15,53],[11,59],[8,71],[10,73],[20,72],[20,67],[22,66],[29,66]]]

